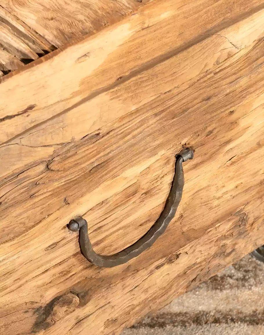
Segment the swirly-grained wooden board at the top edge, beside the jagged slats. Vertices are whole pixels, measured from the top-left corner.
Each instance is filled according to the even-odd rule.
[[[148,1],[3,0],[1,6],[50,44],[61,47],[72,39],[93,34],[119,21]]]

